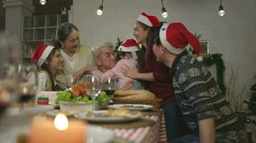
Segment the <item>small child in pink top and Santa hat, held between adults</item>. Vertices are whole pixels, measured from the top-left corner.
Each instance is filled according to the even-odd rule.
[[[115,78],[118,80],[117,89],[123,89],[125,83],[128,81],[134,80],[129,77],[125,77],[122,74],[122,67],[128,66],[129,68],[136,69],[138,67],[137,62],[137,51],[140,51],[139,45],[134,41],[134,39],[127,39],[124,41],[118,48],[119,55],[121,56],[121,60],[119,60],[116,65],[109,69],[109,71],[102,72],[99,69],[91,71],[93,75],[96,75],[96,78],[99,82],[104,83],[109,77]],[[144,86],[139,82],[134,80],[134,87],[132,89],[144,89]],[[127,89],[128,90],[128,89]]]

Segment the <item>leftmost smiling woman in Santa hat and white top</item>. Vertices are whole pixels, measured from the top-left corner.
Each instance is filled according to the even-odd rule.
[[[39,70],[37,91],[57,91],[55,77],[63,69],[63,58],[60,50],[45,44],[37,46],[31,57],[32,63],[37,64]],[[31,77],[33,80],[33,77]]]

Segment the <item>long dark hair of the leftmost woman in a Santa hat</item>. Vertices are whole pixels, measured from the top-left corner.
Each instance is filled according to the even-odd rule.
[[[60,51],[60,50],[58,48],[54,47],[52,49],[52,51],[50,51],[49,56],[47,56],[47,59],[45,59],[45,60],[50,61],[52,59],[52,57],[54,56],[55,51]],[[58,86],[55,86],[54,77],[52,75],[52,71],[50,71],[49,65],[45,64],[45,62],[44,62],[40,68],[42,70],[45,70],[47,72],[47,74],[49,74],[50,83],[52,85],[52,91],[58,91],[60,88]]]

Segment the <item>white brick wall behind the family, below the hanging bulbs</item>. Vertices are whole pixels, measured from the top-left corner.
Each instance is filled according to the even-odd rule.
[[[246,82],[256,74],[256,1],[224,0],[225,16],[219,16],[219,0],[164,0],[168,18],[161,17],[160,0],[106,0],[104,14],[96,15],[101,0],[74,0],[73,23],[80,29],[81,42],[93,46],[98,41],[132,38],[137,16],[144,11],[162,21],[183,22],[192,33],[209,41],[211,53],[223,54]],[[239,82],[242,83],[242,82]]]

